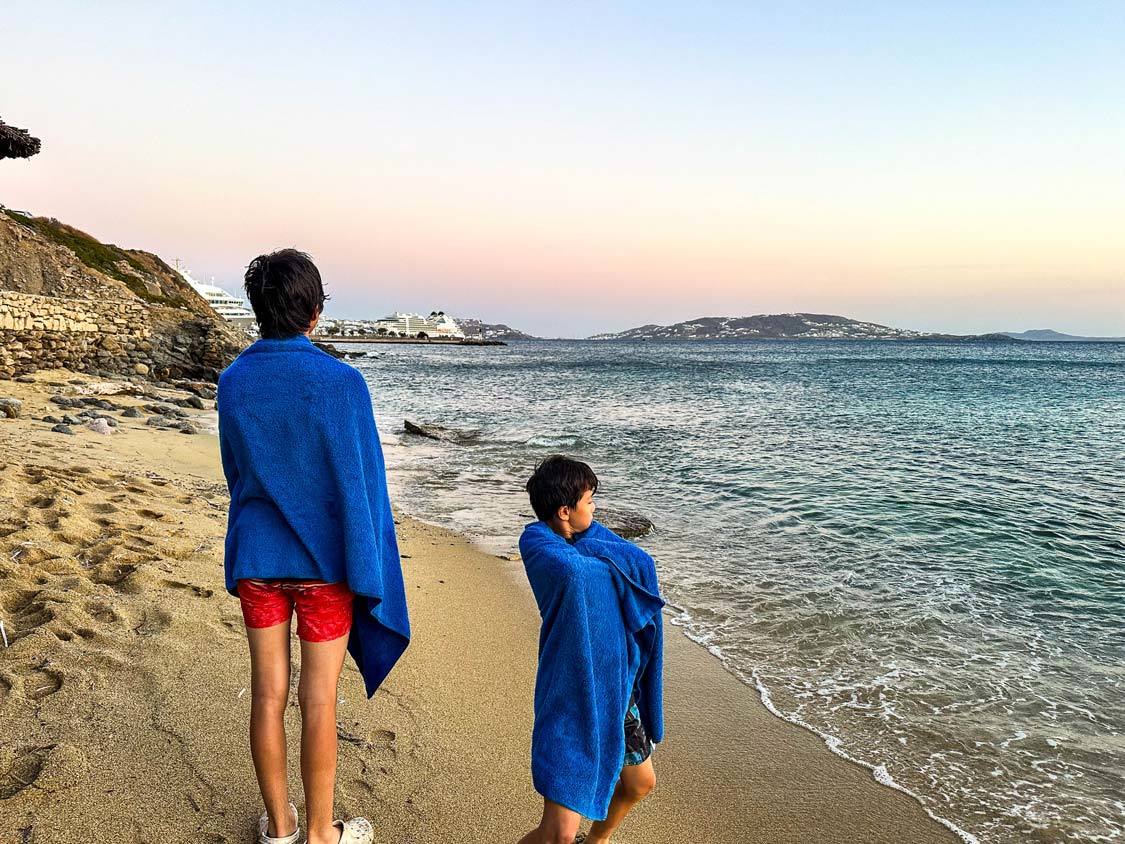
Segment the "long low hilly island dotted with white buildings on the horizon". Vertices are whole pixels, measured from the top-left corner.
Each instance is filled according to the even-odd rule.
[[[994,334],[934,334],[892,329],[873,322],[830,314],[759,314],[757,316],[703,316],[674,325],[641,325],[591,340],[978,340],[1011,343],[1016,339]]]

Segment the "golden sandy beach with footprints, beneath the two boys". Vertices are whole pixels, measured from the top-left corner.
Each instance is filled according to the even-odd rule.
[[[58,411],[52,395],[125,384],[65,370],[0,381],[24,403],[0,417],[0,841],[250,842],[260,799],[242,618],[223,589],[217,439],[115,412],[111,434],[39,421]],[[522,568],[440,527],[403,517],[399,531],[414,639],[372,700],[345,667],[339,810],[370,817],[388,844],[515,841],[540,805],[538,617]],[[955,841],[667,634],[658,784],[623,844]]]

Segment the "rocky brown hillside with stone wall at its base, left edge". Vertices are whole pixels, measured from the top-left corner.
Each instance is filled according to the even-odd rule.
[[[66,367],[214,380],[249,342],[156,255],[0,206],[0,378]]]

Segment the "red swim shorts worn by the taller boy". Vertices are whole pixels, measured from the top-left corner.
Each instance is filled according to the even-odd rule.
[[[303,641],[332,641],[351,630],[353,598],[346,583],[238,581],[246,627],[288,623],[296,608],[297,636]]]

